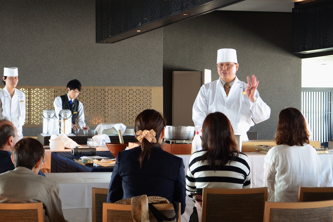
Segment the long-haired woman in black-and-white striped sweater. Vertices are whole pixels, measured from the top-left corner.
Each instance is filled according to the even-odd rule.
[[[192,154],[186,175],[186,194],[209,188],[249,188],[248,157],[239,151],[229,119],[220,112],[207,115],[202,125],[202,150]],[[198,221],[196,207],[190,222]]]

